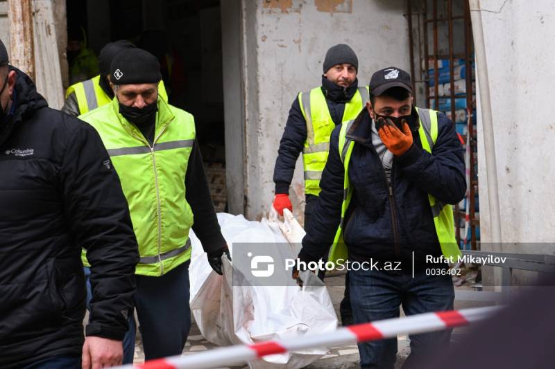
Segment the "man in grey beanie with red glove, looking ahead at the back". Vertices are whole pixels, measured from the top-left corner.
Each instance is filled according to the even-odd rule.
[[[305,229],[310,226],[312,210],[320,193],[320,179],[327,161],[330,134],[336,125],[354,119],[368,101],[368,88],[358,87],[358,68],[357,55],[350,46],[332,46],[325,55],[321,87],[298,93],[289,110],[273,172],[273,207],[280,215],[284,208],[293,210],[289,201],[289,185],[295,163],[302,152],[305,169]],[[347,283],[345,298],[341,302],[343,325],[350,323],[351,317]]]

